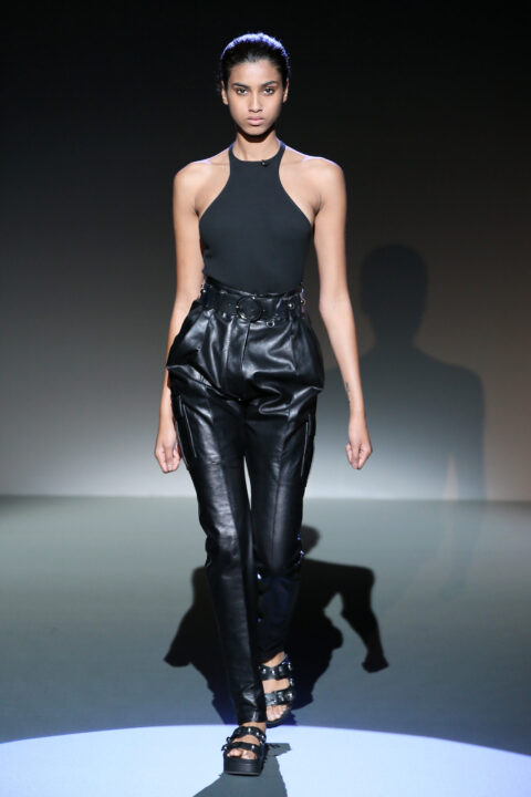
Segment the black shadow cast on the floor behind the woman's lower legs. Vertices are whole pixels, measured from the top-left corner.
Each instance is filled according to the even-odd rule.
[[[319,532],[303,526],[301,540],[308,555],[316,546]],[[230,724],[235,722],[235,714],[205,568],[196,568],[191,580],[192,604],[184,615],[164,661],[175,667],[192,664],[212,692],[214,707],[223,722]],[[365,645],[366,655],[361,663],[364,670],[372,673],[388,666],[378,623],[371,608],[374,581],[374,573],[367,568],[304,559],[299,598],[287,640],[296,684],[294,711],[313,702],[315,683],[326,672],[333,650],[343,644],[342,632],[325,613],[335,596],[341,597],[342,615]],[[290,715],[285,724],[296,724],[296,718]]]

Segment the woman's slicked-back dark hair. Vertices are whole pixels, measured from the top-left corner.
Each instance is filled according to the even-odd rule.
[[[254,62],[261,59],[269,59],[277,66],[282,77],[282,86],[285,89],[287,81],[291,77],[291,68],[284,45],[278,39],[259,31],[258,33],[243,33],[232,39],[225,48],[216,73],[218,94],[221,93],[221,81],[227,89],[233,66],[244,61]]]

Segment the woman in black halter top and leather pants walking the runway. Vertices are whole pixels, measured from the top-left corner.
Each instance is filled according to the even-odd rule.
[[[177,290],[155,447],[164,473],[184,460],[197,494],[238,723],[222,745],[223,770],[247,775],[261,773],[266,728],[285,718],[295,694],[284,644],[324,387],[303,287],[312,238],[319,310],[348,403],[346,456],[361,468],[372,453],[346,279],[344,175],[278,138],[289,81],[277,39],[231,41],[218,90],[236,138],[175,176]]]

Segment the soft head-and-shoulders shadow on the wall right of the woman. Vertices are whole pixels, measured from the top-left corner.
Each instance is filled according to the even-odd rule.
[[[424,260],[405,246],[375,249],[362,263],[362,309],[376,337],[360,358],[373,454],[358,472],[363,478],[353,479],[346,468],[339,474],[339,489],[346,487],[352,497],[445,498],[452,468],[452,498],[485,498],[481,382],[414,343],[427,284]],[[326,484],[324,468],[346,443],[348,415],[337,368],[327,372],[326,387],[320,398],[316,485]]]

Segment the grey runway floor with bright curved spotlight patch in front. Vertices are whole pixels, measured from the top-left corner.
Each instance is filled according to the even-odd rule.
[[[188,498],[3,498],[0,794],[531,793],[531,507],[305,500],[299,695],[260,778]]]

